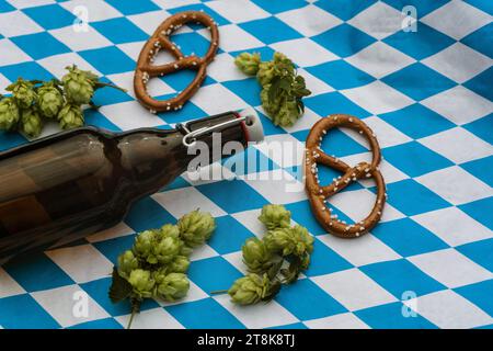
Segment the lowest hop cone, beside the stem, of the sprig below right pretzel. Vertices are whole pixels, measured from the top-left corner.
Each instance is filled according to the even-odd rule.
[[[252,305],[268,296],[271,281],[267,274],[263,276],[250,273],[238,279],[229,288],[231,301],[239,305]]]

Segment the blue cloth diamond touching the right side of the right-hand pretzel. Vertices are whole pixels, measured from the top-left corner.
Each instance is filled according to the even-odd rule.
[[[388,184],[387,193],[389,194],[389,204],[408,216],[451,206],[413,179]]]

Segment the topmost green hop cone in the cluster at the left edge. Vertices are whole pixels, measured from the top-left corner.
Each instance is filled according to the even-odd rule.
[[[76,65],[67,69],[69,72],[61,78],[65,97],[72,104],[88,104],[94,94],[98,77],[89,71],[80,70]]]

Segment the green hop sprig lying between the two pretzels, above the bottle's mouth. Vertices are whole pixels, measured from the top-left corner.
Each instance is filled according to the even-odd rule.
[[[262,87],[262,106],[274,125],[293,126],[301,117],[305,112],[302,98],[311,92],[286,55],[276,52],[272,60],[260,61],[259,54],[242,53],[234,64],[245,75],[256,75]]]

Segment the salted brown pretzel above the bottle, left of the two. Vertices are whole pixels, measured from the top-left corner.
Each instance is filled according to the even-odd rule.
[[[204,57],[194,54],[185,56],[180,50],[180,46],[170,39],[170,35],[179,30],[183,24],[196,22],[204,24],[210,30],[210,46]],[[156,30],[154,34],[147,41],[137,60],[137,68],[134,76],[134,90],[140,103],[150,112],[161,112],[182,109],[183,104],[197,91],[206,77],[206,67],[216,56],[219,47],[219,32],[214,20],[202,11],[185,11],[175,13],[168,18]],[[161,50],[168,50],[173,55],[175,61],[164,65],[153,65],[154,57]],[[193,69],[197,73],[195,79],[176,97],[159,101],[149,95],[147,82],[154,77],[163,77],[182,69]]]

